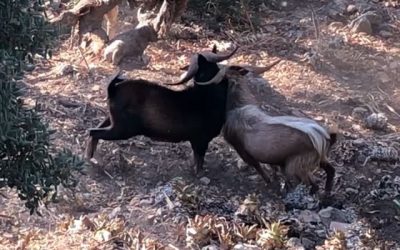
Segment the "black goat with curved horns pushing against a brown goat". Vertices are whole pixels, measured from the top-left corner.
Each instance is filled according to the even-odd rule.
[[[93,157],[99,139],[144,135],[158,141],[189,141],[198,173],[209,142],[220,134],[225,122],[228,81],[222,79],[225,74],[217,63],[230,58],[237,49],[227,54],[203,52],[192,56],[187,74],[174,84],[194,78],[200,85],[182,91],[143,79],[124,80],[116,74],[107,87],[109,116],[97,128],[89,129],[86,157]]]

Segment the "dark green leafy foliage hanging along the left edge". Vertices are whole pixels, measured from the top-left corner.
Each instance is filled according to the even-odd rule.
[[[16,80],[25,58],[49,54],[56,34],[46,24],[41,1],[0,0],[0,188],[16,188],[31,214],[54,201],[57,187],[74,187],[83,161],[69,150],[52,154],[51,131],[35,109],[23,105]]]

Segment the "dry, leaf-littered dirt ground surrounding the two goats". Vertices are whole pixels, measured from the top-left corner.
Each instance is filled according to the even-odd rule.
[[[309,3],[319,20],[318,38],[310,9],[298,4],[287,10],[263,11],[263,28],[257,35],[213,33],[206,26],[192,26],[197,39],[159,41],[145,51],[148,65],[125,61],[120,68],[127,77],[170,82],[178,79],[179,67],[191,53],[213,44],[220,50],[232,43],[241,46],[229,63],[263,65],[281,58],[280,64],[262,76],[264,81],[254,80],[253,93],[270,114],[305,115],[339,126],[339,141],[331,154],[336,177],[329,205],[354,212],[346,223],[361,225],[356,237],[364,244],[354,245],[348,232],[347,248],[399,249],[400,10],[384,7],[382,2],[370,3],[383,13],[392,30],[367,35],[327,17],[331,3]],[[129,15],[123,10],[120,30],[129,27]],[[24,80],[26,104],[37,102],[43,119],[57,130],[53,145],[71,148],[79,155],[84,152],[86,130],[105,117],[104,86],[117,70],[105,62],[86,60],[89,65],[79,50],[69,48],[67,39],[60,39],[53,58],[37,65]],[[62,72],[65,65],[73,66],[70,73]],[[384,114],[386,127],[367,128],[363,115],[371,113]],[[388,148],[395,153],[387,153]],[[4,193],[7,199],[0,196],[0,248],[139,249],[140,245],[146,246],[141,249],[185,249],[185,229],[195,214],[233,221],[240,204],[252,193],[258,195],[260,210],[267,211],[270,220],[284,214],[301,221],[304,216],[299,213],[319,213],[326,208],[289,208],[277,190],[266,186],[221,137],[210,144],[206,172],[200,177],[192,174],[188,143],[163,143],[142,136],[102,141],[95,158],[98,162],[89,164],[77,190],[62,190],[59,203],[43,209],[43,217],[29,216],[13,191]],[[315,175],[322,187],[324,174]],[[391,186],[383,187],[387,182]],[[194,184],[194,191],[185,199],[176,198],[168,193],[173,192],[171,183]],[[390,194],[376,195],[384,191]],[[309,230],[294,230],[288,238],[309,239],[312,243],[306,249],[328,244],[329,236],[317,235],[318,230],[306,223],[305,227]],[[199,245],[223,248],[221,242],[221,238],[210,237]]]

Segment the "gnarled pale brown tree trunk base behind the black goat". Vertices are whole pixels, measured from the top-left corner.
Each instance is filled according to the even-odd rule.
[[[173,22],[183,14],[187,2],[188,0],[149,0],[141,2],[128,0],[131,8],[136,5],[140,6],[138,10],[139,23],[137,27],[149,27],[150,29],[147,29],[149,34],[143,34],[143,31],[136,32],[132,30],[127,31],[131,32],[131,34],[124,36],[118,35],[119,37],[117,36],[115,39],[120,39],[122,43],[126,42],[126,44],[129,44],[129,41],[132,41],[131,39],[134,41],[144,39],[146,41],[142,41],[141,43],[145,45],[147,43],[148,45],[149,42],[154,41],[154,39],[150,39],[154,36],[152,33],[155,33],[158,37],[165,37]],[[52,19],[51,22],[60,22],[73,27],[76,26],[79,45],[84,48],[87,53],[99,56],[109,43],[110,37],[115,33],[118,5],[121,3],[122,0],[81,0],[72,9],[64,11],[60,16]],[[145,13],[142,13],[143,10]],[[106,18],[108,21],[107,32],[102,28],[103,18]],[[135,29],[137,27],[135,27]],[[142,37],[148,37],[149,39]],[[129,39],[129,41],[124,41],[124,39]],[[111,43],[113,40],[111,40]],[[114,45],[114,47],[120,48],[120,44],[121,43],[119,43],[118,46]],[[112,44],[109,45],[111,46]],[[144,46],[143,51],[146,49],[147,45]],[[112,50],[113,48],[110,48],[108,52],[112,53]],[[129,54],[129,48],[124,49],[128,51],[120,50],[118,54]]]

